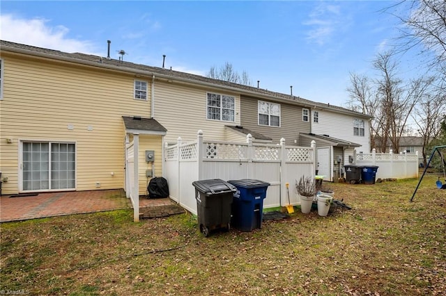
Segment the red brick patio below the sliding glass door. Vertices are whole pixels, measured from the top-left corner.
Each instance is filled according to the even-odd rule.
[[[122,189],[70,192],[45,192],[35,196],[0,197],[0,222],[21,221],[43,217],[75,215],[132,208]],[[169,198],[139,199],[143,218],[184,213],[185,210]]]

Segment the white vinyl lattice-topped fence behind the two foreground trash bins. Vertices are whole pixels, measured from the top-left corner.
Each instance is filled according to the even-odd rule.
[[[288,204],[286,183],[289,183],[291,204],[300,204],[295,182],[300,176],[314,177],[316,172],[315,143],[312,147],[286,147],[246,143],[203,141],[199,131],[197,141],[164,147],[163,175],[169,183],[171,199],[191,213],[197,214],[193,181],[222,179],[258,179],[270,183],[263,200],[264,208]]]

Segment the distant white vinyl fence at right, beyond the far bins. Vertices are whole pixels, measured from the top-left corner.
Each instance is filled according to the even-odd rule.
[[[416,154],[393,154],[371,153],[355,154],[355,165],[376,165],[376,179],[410,179],[418,178],[418,153]]]

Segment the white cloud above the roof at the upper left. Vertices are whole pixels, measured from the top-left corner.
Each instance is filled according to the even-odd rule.
[[[0,39],[10,42],[56,49],[65,52],[95,53],[93,42],[68,38],[66,26],[50,26],[48,19],[22,19],[15,15],[0,15]]]

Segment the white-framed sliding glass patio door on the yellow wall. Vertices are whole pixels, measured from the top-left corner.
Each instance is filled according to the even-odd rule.
[[[72,142],[21,142],[22,190],[76,187],[76,147]]]

